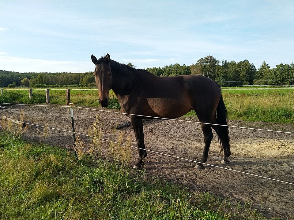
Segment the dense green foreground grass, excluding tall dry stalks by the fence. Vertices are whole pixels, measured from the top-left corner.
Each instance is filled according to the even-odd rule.
[[[175,187],[143,187],[118,161],[76,163],[60,148],[0,143],[1,219],[224,219]]]

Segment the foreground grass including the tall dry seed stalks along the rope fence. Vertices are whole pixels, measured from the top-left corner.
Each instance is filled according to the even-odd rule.
[[[250,203],[147,180],[128,166],[126,146],[104,144],[109,154],[101,157],[102,143],[82,152],[77,141],[76,162],[72,152],[42,144],[46,130],[39,143],[28,143],[25,129],[4,120],[1,127],[0,219],[266,219]]]

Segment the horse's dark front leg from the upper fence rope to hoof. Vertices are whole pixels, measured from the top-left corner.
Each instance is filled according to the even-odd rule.
[[[139,159],[138,159],[138,162],[135,163],[133,168],[136,170],[140,170],[142,168],[141,164],[143,163],[143,159],[144,157],[147,156],[147,152],[145,150],[145,144],[144,144],[143,122],[142,122],[142,118],[138,116],[130,116],[130,121],[133,126],[136,141],[137,141],[137,146],[139,148]]]

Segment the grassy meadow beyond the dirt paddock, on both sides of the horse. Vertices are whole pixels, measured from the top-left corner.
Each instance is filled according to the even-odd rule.
[[[78,88],[83,89],[83,88]],[[85,88],[89,89],[89,88]],[[247,121],[265,121],[273,123],[294,123],[294,89],[265,87],[263,90],[223,90],[223,98],[228,109],[229,119]],[[70,90],[71,102],[75,105],[99,106],[98,90]],[[4,90],[0,102],[17,102],[23,104],[44,103],[44,90],[33,90],[33,98],[28,98],[28,90]],[[65,104],[65,90],[50,90],[50,102]],[[117,98],[110,92],[107,108],[119,109]],[[195,115],[195,112],[187,114]]]

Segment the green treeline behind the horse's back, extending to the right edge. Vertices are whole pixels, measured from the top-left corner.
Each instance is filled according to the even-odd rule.
[[[206,56],[190,66],[174,64],[146,70],[156,76],[203,75],[215,80],[221,86],[294,84],[293,63],[279,64],[275,68],[270,68],[264,61],[257,70],[248,60],[238,63],[233,60],[220,62],[212,56]]]

